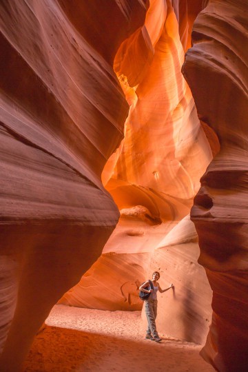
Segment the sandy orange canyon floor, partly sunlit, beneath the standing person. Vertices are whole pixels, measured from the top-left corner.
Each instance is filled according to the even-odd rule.
[[[25,372],[211,372],[201,346],[160,333],[145,340],[141,311],[101,311],[56,305],[37,335]]]

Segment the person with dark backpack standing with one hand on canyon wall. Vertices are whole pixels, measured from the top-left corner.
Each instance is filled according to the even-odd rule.
[[[166,289],[161,289],[160,285],[158,284],[157,280],[160,278],[160,273],[158,271],[154,271],[152,274],[152,284],[154,288],[150,287],[150,282],[147,280],[141,287],[139,287],[140,291],[145,293],[150,293],[149,298],[145,300],[145,315],[147,316],[148,328],[147,334],[145,338],[147,340],[153,340],[156,342],[161,342],[162,339],[158,336],[158,332],[156,330],[156,316],[157,316],[157,307],[158,307],[158,300],[157,300],[157,291],[163,293],[168,291],[170,288],[173,288],[174,285],[169,285]],[[147,289],[149,288],[149,289]]]

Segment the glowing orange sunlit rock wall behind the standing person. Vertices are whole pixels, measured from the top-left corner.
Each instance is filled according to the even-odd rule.
[[[179,1],[149,3],[145,25],[114,59],[130,112],[125,138],[102,179],[121,218],[101,258],[60,303],[141,309],[136,289],[158,270],[162,288],[176,286],[158,298],[158,329],[203,343],[211,289],[197,263],[196,231],[187,216],[212,152],[180,72],[191,27],[187,10]]]

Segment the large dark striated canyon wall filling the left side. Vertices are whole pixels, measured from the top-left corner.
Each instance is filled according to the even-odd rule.
[[[118,221],[101,183],[128,113],[112,63],[145,3],[0,3],[1,371],[19,370]]]

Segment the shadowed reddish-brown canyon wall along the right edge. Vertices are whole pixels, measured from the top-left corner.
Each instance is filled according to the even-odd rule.
[[[247,1],[205,1],[183,67],[200,118],[220,152],[201,179],[192,220],[213,289],[203,356],[219,371],[247,371]]]

